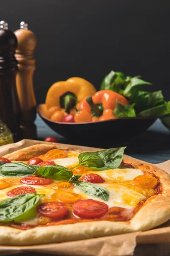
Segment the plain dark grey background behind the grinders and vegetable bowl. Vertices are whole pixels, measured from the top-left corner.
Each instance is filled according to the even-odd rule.
[[[170,99],[169,0],[4,0],[0,19],[37,37],[37,103],[56,81],[80,76],[98,89],[112,69],[142,75]]]

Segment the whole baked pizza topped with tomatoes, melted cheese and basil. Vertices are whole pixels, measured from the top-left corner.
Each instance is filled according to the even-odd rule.
[[[34,245],[149,230],[170,219],[170,175],[123,158],[32,145],[0,157],[0,244]]]

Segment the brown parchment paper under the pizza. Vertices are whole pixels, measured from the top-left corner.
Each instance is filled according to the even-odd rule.
[[[17,149],[25,148],[34,144],[48,144],[47,142],[37,140],[21,140],[17,143],[3,145],[0,147],[0,156],[11,153]],[[72,148],[84,151],[96,151],[102,148],[90,148],[77,145],[55,144],[59,148]],[[135,159],[125,155],[127,159]],[[135,159],[136,160],[136,159]],[[143,161],[142,161],[143,162]],[[155,166],[163,169],[170,174],[170,160],[156,164]],[[36,252],[47,253],[48,255],[58,256],[129,256],[137,244],[161,244],[170,243],[170,221],[162,224],[160,227],[145,232],[135,232],[117,236],[106,236],[95,239],[81,241],[71,241],[58,244],[43,244],[34,246],[0,246],[0,256],[10,254]]]

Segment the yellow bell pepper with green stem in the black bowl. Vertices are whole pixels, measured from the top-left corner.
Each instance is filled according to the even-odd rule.
[[[59,81],[51,85],[48,90],[45,105],[47,111],[51,107],[65,109],[70,113],[77,103],[87,96],[96,93],[96,89],[89,81],[80,77],[71,77],[66,81]]]

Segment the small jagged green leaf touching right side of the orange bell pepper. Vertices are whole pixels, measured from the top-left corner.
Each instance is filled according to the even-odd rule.
[[[116,100],[116,108],[114,109],[113,114],[116,117],[135,117],[136,113],[134,110],[134,104],[124,105],[124,104],[120,104]]]

